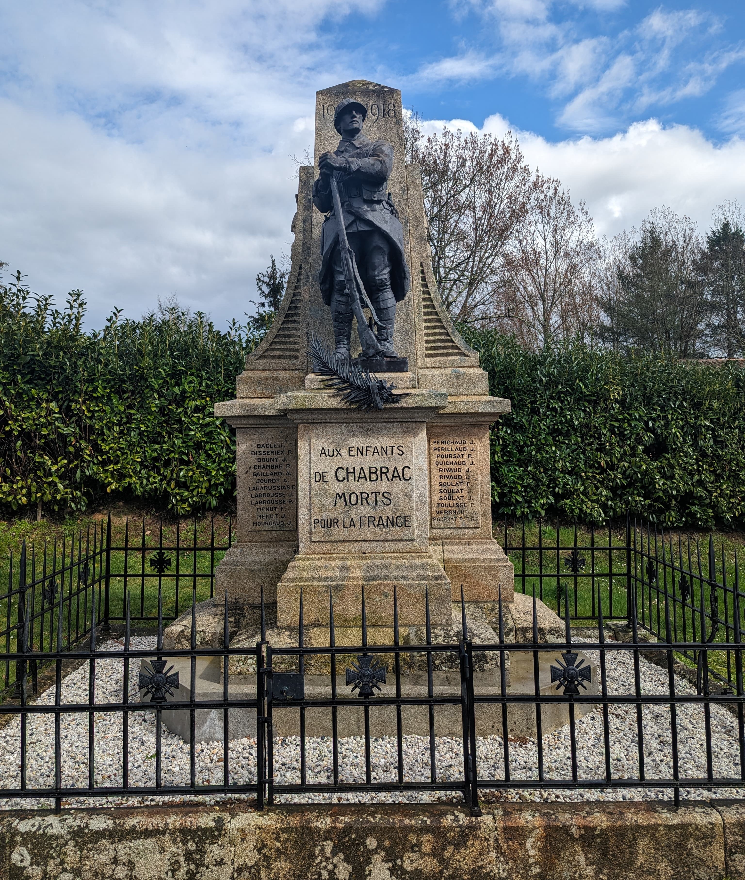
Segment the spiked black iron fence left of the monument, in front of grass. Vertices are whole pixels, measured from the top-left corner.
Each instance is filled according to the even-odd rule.
[[[216,528],[215,528],[216,524]],[[98,525],[51,542],[26,547],[9,555],[7,590],[0,594],[0,694],[16,687],[15,665],[7,655],[19,644],[28,616],[28,641],[34,649],[51,649],[60,626],[62,643],[71,647],[91,631],[93,608],[99,630],[124,625],[126,604],[130,620],[151,624],[158,620],[158,598],[164,620],[173,620],[192,602],[211,598],[215,568],[230,548],[230,518],[198,524],[177,521],[133,528],[127,519],[123,533],[115,533],[112,517]],[[2,571],[2,569],[0,569]],[[2,574],[0,574],[2,577]],[[37,676],[39,662],[33,662]],[[35,693],[35,683],[33,690]]]

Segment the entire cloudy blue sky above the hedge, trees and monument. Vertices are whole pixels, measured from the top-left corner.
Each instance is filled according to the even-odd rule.
[[[599,235],[745,202],[732,0],[11,0],[0,6],[0,260],[83,288],[90,324],[176,293],[223,325],[289,253],[314,92],[397,86],[427,120],[515,131]]]

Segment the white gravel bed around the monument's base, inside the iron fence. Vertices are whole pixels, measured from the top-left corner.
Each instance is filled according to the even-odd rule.
[[[579,641],[579,640],[578,640]],[[133,638],[133,649],[155,647],[153,638]],[[100,649],[96,661],[96,700],[121,700],[123,682],[122,661],[106,659],[106,650],[121,648],[121,643],[109,642]],[[599,658],[588,652],[599,672]],[[634,693],[632,653],[620,650],[608,652],[608,691],[610,694]],[[668,693],[668,673],[645,660],[640,661],[641,690],[648,695]],[[151,711],[137,711],[139,700],[136,690],[139,660],[130,661],[129,699],[135,708],[129,714],[129,785],[155,785],[156,780],[156,717]],[[86,703],[88,700],[88,664],[72,672],[62,682],[62,703]],[[695,693],[683,678],[676,677],[676,693]],[[54,704],[55,688],[40,694],[40,703]],[[436,710],[435,710],[436,711]],[[637,745],[637,716],[634,706],[611,706],[610,759],[613,778],[631,778],[639,774]],[[740,753],[737,720],[727,709],[712,706],[712,763],[714,778],[736,778],[740,774]],[[85,787],[88,784],[88,715],[62,715],[62,786]],[[646,778],[672,776],[670,709],[668,706],[643,708]],[[122,773],[122,715],[96,712],[94,716],[94,781],[97,786],[121,785]],[[603,750],[603,712],[600,706],[576,722],[578,773],[580,779],[603,779],[605,758]],[[705,715],[702,706],[679,705],[677,732],[680,773],[682,777],[705,777]],[[55,719],[54,715],[28,716],[26,725],[27,785],[46,787],[54,785]],[[570,733],[566,726],[543,737],[544,772],[547,779],[571,779]],[[404,737],[405,781],[429,780],[428,737]],[[486,800],[500,801],[611,801],[611,800],[668,800],[670,789],[554,789],[518,791],[488,791],[486,780],[504,778],[503,745],[501,737],[478,737],[478,777],[482,781],[480,794]],[[164,785],[184,785],[189,781],[190,749],[179,736],[162,727],[162,781]],[[458,781],[463,774],[463,744],[459,738],[438,737],[435,740],[437,778],[440,781]],[[0,729],[0,788],[18,788],[20,784],[20,720],[18,717]],[[230,781],[251,783],[256,780],[256,742],[244,738],[230,742]],[[537,779],[537,740],[535,737],[509,741],[510,772],[512,779]],[[306,740],[307,780],[332,781],[332,742],[330,737],[308,737]],[[198,785],[222,784],[223,743],[199,743],[195,747],[196,781]],[[364,782],[365,755],[361,737],[339,741],[340,780]],[[397,742],[395,737],[379,737],[371,741],[371,774],[375,781],[397,781]],[[299,737],[285,737],[274,743],[274,780],[276,783],[300,781]],[[712,797],[745,797],[742,788],[681,788],[683,799],[707,800]],[[63,799],[63,806],[113,806],[115,804],[154,803],[211,803],[252,799],[252,795],[203,796],[128,796]],[[450,792],[416,793],[344,793],[277,797],[281,803],[411,803],[460,801],[460,794]],[[0,808],[19,809],[51,806],[50,799],[5,798]]]

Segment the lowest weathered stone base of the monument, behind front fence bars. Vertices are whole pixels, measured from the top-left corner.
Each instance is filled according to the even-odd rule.
[[[325,595],[325,614],[328,616],[328,594]],[[546,607],[543,602],[536,603],[537,628],[539,642],[563,642],[565,638],[564,623],[557,615]],[[197,644],[222,644],[220,636],[223,626],[223,607],[211,600],[201,603],[197,614]],[[335,615],[334,615],[335,616]],[[253,700],[256,695],[256,643],[260,639],[260,618],[258,610],[247,609],[243,617],[243,628],[230,641],[230,648],[245,648],[244,656],[231,656],[229,660],[229,685],[231,700]],[[229,626],[235,625],[232,616]],[[266,613],[267,642],[273,648],[294,648],[297,646],[297,627],[281,627],[278,625],[274,607],[268,607]],[[503,605],[503,626],[505,636],[505,679],[508,693],[535,693],[533,668],[533,652],[521,650],[521,642],[532,641],[532,598],[515,594],[515,601]],[[462,638],[461,607],[459,603],[449,605],[449,620],[432,627],[433,644],[453,645]],[[495,603],[468,603],[466,605],[466,627],[468,636],[473,642],[474,688],[480,696],[500,693],[500,652],[479,651],[478,644],[494,644],[498,642],[498,617]],[[362,631],[354,626],[335,627],[337,647],[354,647],[359,650],[362,643]],[[188,648],[191,639],[191,612],[186,612],[175,620],[164,632],[166,647],[179,649]],[[402,626],[399,628],[399,639],[402,645],[425,644],[426,630],[420,625]],[[395,695],[394,656],[386,654],[379,646],[393,643],[392,627],[369,627],[369,653],[376,657],[376,666],[386,669],[386,683],[379,695]],[[307,647],[325,647],[329,645],[328,625],[318,624],[304,627],[303,644]],[[579,646],[578,646],[579,648]],[[587,657],[578,651],[581,658]],[[337,693],[340,698],[348,694],[349,706],[340,708],[338,715],[338,736],[358,737],[364,733],[363,702],[349,693],[344,678],[347,666],[357,659],[357,651],[349,654],[339,653],[336,656]],[[557,693],[556,685],[551,684],[551,664],[557,665],[560,652],[542,651],[538,658],[539,690],[543,695]],[[274,671],[297,671],[296,656],[274,656]],[[331,661],[328,655],[309,655],[305,663],[305,696],[309,700],[323,700],[331,696]],[[191,688],[190,661],[187,657],[173,658],[169,665],[179,671],[179,691],[172,700],[189,700]],[[404,696],[426,697],[427,695],[427,656],[423,653],[402,653],[399,662],[401,670],[401,686]],[[435,696],[460,695],[459,660],[455,654],[442,653],[433,655]],[[197,700],[223,699],[223,670],[219,656],[199,657],[196,664],[195,693]],[[582,693],[598,693],[598,672],[592,669],[592,678],[586,691]],[[369,700],[370,732],[372,736],[396,736],[395,708],[376,706],[375,698]],[[580,719],[594,708],[592,704],[576,705],[574,716]],[[555,704],[541,708],[541,726],[543,733],[550,733],[563,727],[569,720],[566,706]],[[180,709],[165,709],[163,721],[169,730],[178,733],[186,740],[189,738],[190,712]],[[429,733],[429,713],[427,707],[405,708],[402,713],[403,732],[417,736]],[[498,703],[479,703],[476,708],[476,724],[478,736],[502,735],[501,707]],[[195,712],[195,732],[198,742],[219,740],[223,738],[222,709],[201,708]],[[292,704],[284,706],[275,703],[274,736],[289,737],[299,733],[299,713]],[[435,735],[438,737],[462,736],[462,717],[460,705],[438,706],[435,708]],[[332,734],[332,715],[329,708],[309,708],[306,710],[306,734],[309,737],[328,737]],[[250,708],[230,709],[229,737],[256,736],[256,712]],[[508,708],[508,736],[536,736],[536,708],[530,703],[512,705]]]

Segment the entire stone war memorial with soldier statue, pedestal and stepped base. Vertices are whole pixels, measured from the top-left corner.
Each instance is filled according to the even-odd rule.
[[[270,644],[298,644],[302,598],[304,646],[329,645],[330,599],[335,643],[359,646],[364,588],[370,646],[393,643],[394,595],[402,644],[424,642],[427,609],[431,638],[457,642],[462,598],[473,642],[498,641],[499,598],[507,641],[530,642],[532,601],[515,596],[512,564],[492,534],[489,430],[510,403],[489,393],[478,353],[442,306],[397,89],[354,80],[317,93],[314,166],[300,168],[296,198],[281,308],[246,358],[236,399],[215,406],[236,430],[237,532],[216,569],[217,599],[200,606],[199,641],[222,644],[227,595],[230,647],[255,647],[262,597]],[[350,406],[338,392],[345,383],[335,388],[321,362],[367,375],[367,405]],[[563,623],[537,605],[540,640],[563,641]],[[186,647],[190,629],[189,612],[167,641]],[[533,693],[530,652],[509,654],[508,684],[524,679]],[[231,694],[253,687],[246,662],[230,661]],[[542,656],[542,690],[551,687],[550,662]],[[498,687],[499,655],[489,663],[477,685]],[[327,665],[309,657],[306,694],[328,690]],[[407,674],[406,686],[422,686],[416,669]],[[438,686],[457,684],[450,671],[437,674]],[[189,676],[186,664],[185,693]],[[198,677],[202,699],[222,693],[219,664]],[[515,731],[529,732],[530,717],[513,710]],[[200,738],[222,737],[222,713],[197,714]],[[499,707],[492,715],[482,715],[479,732],[501,730]],[[164,722],[180,730],[178,716],[165,712]],[[255,718],[242,717],[231,710],[231,737],[255,730]],[[457,729],[460,719],[451,722]],[[315,732],[327,724],[319,716]],[[418,725],[412,717],[409,732]],[[443,734],[449,726],[443,718]]]

